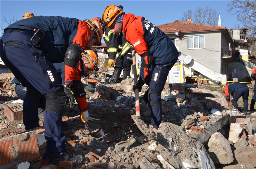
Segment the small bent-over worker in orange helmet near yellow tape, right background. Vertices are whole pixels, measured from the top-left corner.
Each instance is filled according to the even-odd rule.
[[[244,110],[243,113],[246,114],[248,111],[248,96],[249,96],[249,88],[247,85],[239,82],[234,82],[232,84],[227,84],[222,87],[223,92],[226,95],[226,101],[229,105],[230,96],[233,96],[231,99],[232,105],[239,110],[241,109],[237,105],[237,100],[242,96],[244,102]]]

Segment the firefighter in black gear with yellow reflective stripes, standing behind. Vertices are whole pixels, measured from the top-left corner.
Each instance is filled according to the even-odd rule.
[[[130,76],[132,65],[132,46],[125,39],[124,34],[112,33],[107,26],[104,27],[103,39],[107,44],[108,66],[114,67],[111,77],[112,83],[118,83],[118,78],[123,70],[123,80]],[[116,58],[116,54],[118,57]],[[116,62],[115,62],[116,59]]]

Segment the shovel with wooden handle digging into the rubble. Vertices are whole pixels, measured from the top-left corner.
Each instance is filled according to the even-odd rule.
[[[135,58],[135,50],[132,50],[132,68],[133,68],[133,76],[134,76],[134,85],[138,83],[137,77],[137,67],[136,67],[136,58]],[[148,128],[148,125],[140,119],[140,98],[139,98],[139,90],[135,89],[135,115],[132,116],[132,120],[139,128],[139,130],[148,137],[148,140],[154,140],[155,133]]]

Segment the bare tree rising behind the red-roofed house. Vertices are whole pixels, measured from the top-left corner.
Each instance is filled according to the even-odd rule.
[[[197,7],[194,11],[188,9],[188,11],[182,14],[180,21],[186,22],[188,18],[193,19],[193,23],[202,25],[218,25],[218,12],[214,8],[207,7]]]

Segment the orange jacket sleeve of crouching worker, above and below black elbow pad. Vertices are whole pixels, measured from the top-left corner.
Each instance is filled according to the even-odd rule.
[[[75,93],[72,85],[73,85],[73,82],[74,81],[78,81],[79,83],[82,83],[81,81],[81,77],[84,75],[84,72],[82,70],[82,67],[83,64],[81,64],[81,59],[80,59],[80,62],[79,62],[79,67],[78,68],[73,68],[73,67],[70,67],[68,65],[65,65],[63,64],[63,66],[65,66],[65,85],[71,85],[71,89],[74,93],[74,95],[76,96],[77,93]],[[80,93],[78,93],[79,95]],[[84,111],[88,111],[88,104],[87,104],[87,101],[86,101],[86,96],[84,97],[81,97],[81,98],[76,98],[76,102],[78,103],[80,109],[82,112]]]

